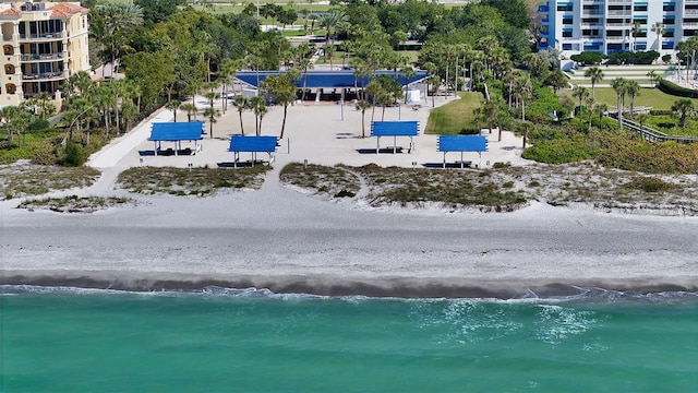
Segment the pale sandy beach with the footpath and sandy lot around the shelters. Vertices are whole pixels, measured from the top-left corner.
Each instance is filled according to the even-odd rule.
[[[438,105],[445,102],[437,98]],[[388,108],[385,119],[419,120],[423,130],[431,99],[422,106]],[[263,134],[278,135],[281,112],[280,107],[270,108]],[[160,111],[153,119],[168,121],[170,116]],[[375,116],[380,119],[380,109]],[[366,111],[366,128],[370,117]],[[178,120],[185,116],[179,114]],[[253,115],[244,114],[243,121],[245,132],[252,133]],[[229,163],[228,141],[239,132],[238,112],[229,107],[200,154],[151,156],[140,154],[153,150],[146,141],[149,126],[142,124],[91,158],[88,164],[103,171],[96,184],[64,193],[124,194],[115,190],[116,177],[137,165]],[[1,202],[0,283],[498,298],[570,295],[594,287],[698,290],[696,218],[606,214],[544,203],[506,214],[376,210],[279,184],[280,168],[304,159],[401,167],[443,159],[435,135],[416,138],[410,154],[376,155],[366,153],[375,148],[375,139],[360,134],[361,115],[351,106],[344,107],[342,120],[337,104],[301,104],[289,107],[287,138],[258,191],[212,198],[136,195],[136,206],[75,215],[27,212],[14,209],[17,200]],[[503,135],[497,142],[496,131],[488,134],[490,151],[481,160],[477,154],[466,159],[482,167],[495,162],[528,165],[520,158],[520,139]],[[409,140],[398,144],[407,146]]]

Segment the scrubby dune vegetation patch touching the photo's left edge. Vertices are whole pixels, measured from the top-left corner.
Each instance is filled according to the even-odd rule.
[[[100,172],[91,167],[8,165],[0,167],[0,198],[9,200],[92,186]]]

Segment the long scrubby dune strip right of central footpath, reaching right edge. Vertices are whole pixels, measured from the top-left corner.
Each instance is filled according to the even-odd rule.
[[[636,171],[607,169],[593,162],[575,165],[501,166],[492,169],[410,169],[325,167],[292,165],[282,171],[286,183],[330,198],[354,196],[341,190],[361,191],[371,206],[428,206],[509,212],[528,201],[553,205],[586,203],[597,209],[673,209],[698,212],[695,176],[666,179],[640,176]],[[357,179],[356,177],[360,179]],[[358,190],[362,184],[363,190]],[[358,194],[358,193],[357,193]],[[639,207],[638,207],[639,206]]]

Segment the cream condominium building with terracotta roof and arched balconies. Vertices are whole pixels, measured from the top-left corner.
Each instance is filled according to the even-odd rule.
[[[60,99],[61,84],[89,70],[88,11],[80,2],[0,2],[0,107],[41,92]]]

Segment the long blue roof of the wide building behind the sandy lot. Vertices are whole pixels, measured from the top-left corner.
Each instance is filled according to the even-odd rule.
[[[278,75],[284,74],[285,71],[239,71],[236,74],[236,78],[240,81],[250,84],[252,86],[257,86],[257,76],[260,84],[264,82],[264,80],[269,75]],[[412,84],[419,82],[426,78],[426,71],[417,71],[413,76],[409,79],[402,76],[400,72],[397,74],[394,71],[384,70],[376,71],[374,76],[387,75],[387,76],[396,76],[399,82],[405,86],[408,84]],[[301,73],[301,76],[296,80],[296,87],[298,88],[349,88],[354,86],[365,86],[371,82],[371,76],[369,78],[359,78],[354,75],[352,70],[341,70],[341,71],[308,71],[306,75]]]

